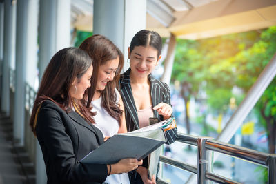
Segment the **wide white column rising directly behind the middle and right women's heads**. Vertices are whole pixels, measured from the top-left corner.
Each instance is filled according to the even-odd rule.
[[[103,34],[124,53],[124,71],[128,46],[139,30],[146,28],[146,0],[95,0],[93,34]]]

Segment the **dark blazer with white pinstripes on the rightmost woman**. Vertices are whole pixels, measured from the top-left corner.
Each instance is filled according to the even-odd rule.
[[[148,80],[150,81],[150,96],[152,99],[152,107],[158,105],[159,103],[170,104],[170,88],[166,83],[163,83],[155,79],[152,74],[148,75]],[[119,80],[119,88],[121,92],[121,97],[124,101],[124,109],[126,116],[126,127],[128,132],[139,129],[138,114],[135,105],[135,101],[132,95],[132,89],[130,85],[130,68],[121,74]],[[163,116],[159,115],[157,110],[154,110],[154,116],[159,121],[164,119]],[[166,131],[166,137],[168,139],[167,143],[173,143],[177,136],[177,130]]]

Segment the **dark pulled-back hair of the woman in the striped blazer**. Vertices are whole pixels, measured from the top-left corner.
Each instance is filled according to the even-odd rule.
[[[157,50],[157,57],[160,56],[162,50],[162,39],[155,31],[140,30],[135,34],[130,42],[130,53],[136,46],[152,46]]]

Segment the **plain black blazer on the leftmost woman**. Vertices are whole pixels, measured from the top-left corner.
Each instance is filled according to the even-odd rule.
[[[35,128],[46,164],[47,183],[103,183],[106,165],[79,163],[103,143],[103,134],[77,112],[42,103]]]

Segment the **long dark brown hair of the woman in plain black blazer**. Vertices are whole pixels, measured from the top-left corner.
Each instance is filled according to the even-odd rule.
[[[49,99],[59,105],[66,112],[72,109],[75,103],[79,109],[79,113],[86,121],[94,123],[92,112],[81,105],[79,100],[72,99],[69,93],[70,86],[74,80],[80,80],[81,76],[92,65],[92,59],[89,55],[79,48],[64,48],[59,50],[48,64],[43,73],[37,97],[34,101],[32,115],[30,117],[30,126],[35,134],[35,116],[39,110],[39,106],[43,101]],[[79,81],[78,81],[79,82]]]

